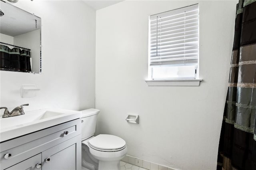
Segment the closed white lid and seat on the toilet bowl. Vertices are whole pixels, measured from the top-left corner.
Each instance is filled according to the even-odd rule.
[[[88,141],[90,148],[102,152],[117,152],[126,148],[126,142],[111,134],[99,134]]]

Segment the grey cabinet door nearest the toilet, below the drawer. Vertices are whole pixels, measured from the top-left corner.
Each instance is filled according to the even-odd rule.
[[[81,170],[81,136],[42,152],[42,170]]]

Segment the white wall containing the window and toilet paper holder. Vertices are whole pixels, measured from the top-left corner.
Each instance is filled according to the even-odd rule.
[[[128,154],[183,170],[216,169],[238,1],[124,1],[96,12],[97,134]],[[199,87],[148,87],[148,16],[199,3]],[[126,123],[128,113],[140,124]]]

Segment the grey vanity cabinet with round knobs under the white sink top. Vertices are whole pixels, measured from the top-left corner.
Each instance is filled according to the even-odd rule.
[[[1,142],[0,150],[0,170],[81,170],[81,121]]]

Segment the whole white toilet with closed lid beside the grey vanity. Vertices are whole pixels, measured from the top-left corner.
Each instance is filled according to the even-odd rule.
[[[82,111],[82,170],[120,170],[120,159],[127,153],[126,142],[114,135],[93,136],[100,110]]]

